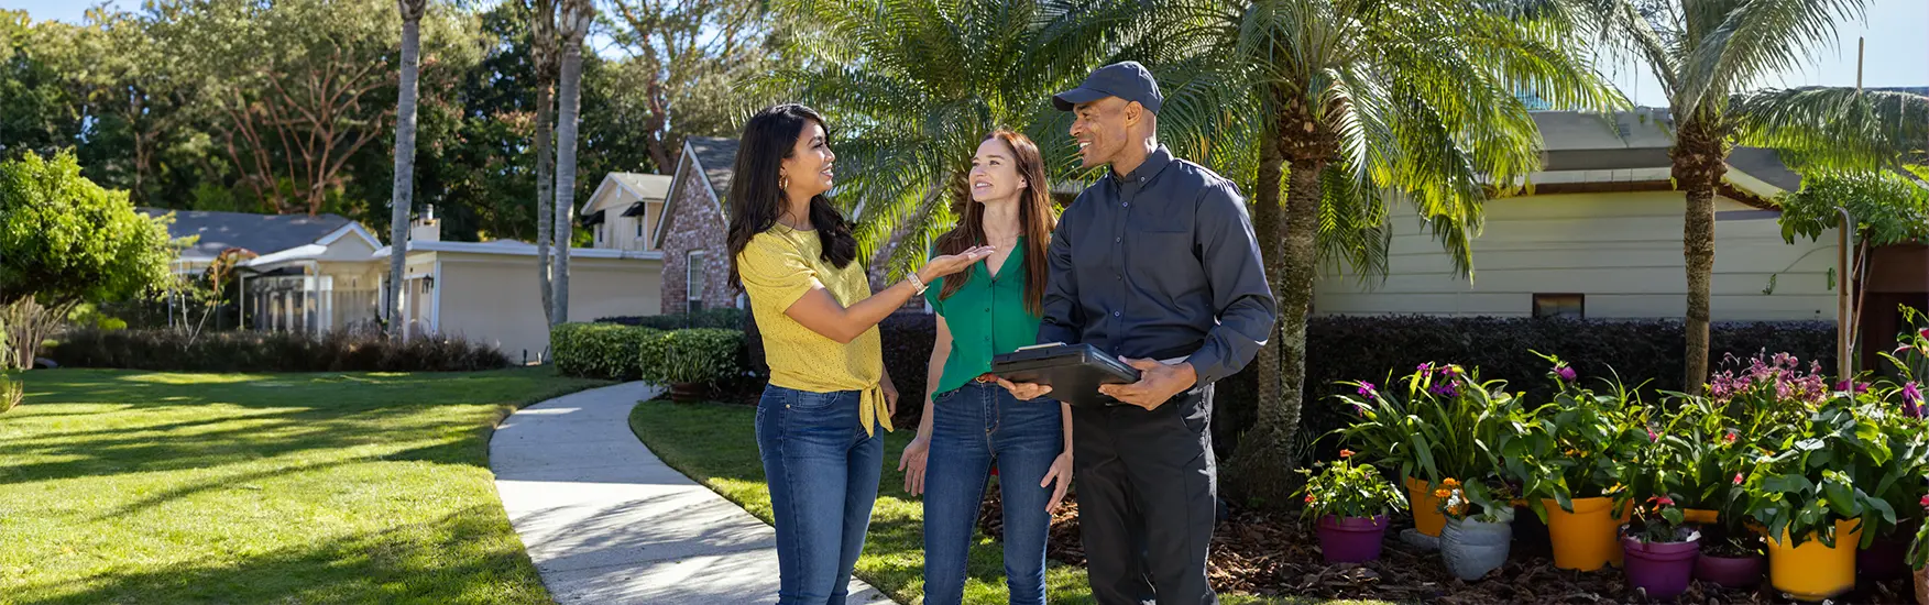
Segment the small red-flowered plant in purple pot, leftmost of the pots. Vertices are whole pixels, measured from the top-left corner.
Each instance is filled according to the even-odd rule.
[[[1368,563],[1379,559],[1387,536],[1387,514],[1406,507],[1406,497],[1373,464],[1352,464],[1352,451],[1341,449],[1339,460],[1323,464],[1300,493],[1306,514],[1319,532],[1319,551],[1327,563]]]

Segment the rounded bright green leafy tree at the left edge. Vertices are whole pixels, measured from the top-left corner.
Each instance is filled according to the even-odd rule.
[[[0,306],[23,366],[73,304],[150,291],[172,258],[166,222],[81,177],[73,152],[0,162]]]

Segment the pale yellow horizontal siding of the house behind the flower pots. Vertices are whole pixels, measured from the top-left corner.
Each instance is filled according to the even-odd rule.
[[[1487,202],[1474,281],[1404,202],[1393,208],[1387,279],[1325,270],[1319,314],[1530,316],[1534,293],[1582,293],[1588,318],[1680,318],[1682,195],[1584,193]],[[1723,320],[1834,320],[1834,233],[1782,243],[1775,216],[1717,198],[1711,312]],[[1723,216],[1725,212],[1736,212]],[[1773,293],[1769,279],[1775,276]]]

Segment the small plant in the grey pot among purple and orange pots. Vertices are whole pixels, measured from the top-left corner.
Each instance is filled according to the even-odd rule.
[[[1441,561],[1454,578],[1474,582],[1507,565],[1514,541],[1512,493],[1499,478],[1460,484],[1441,480],[1433,491],[1447,524],[1441,528]]]

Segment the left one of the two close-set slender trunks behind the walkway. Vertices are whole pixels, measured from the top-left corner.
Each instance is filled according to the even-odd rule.
[[[542,281],[542,318],[556,324],[550,285],[550,237],[556,229],[556,0],[534,0],[529,56],[536,64],[536,277]]]

